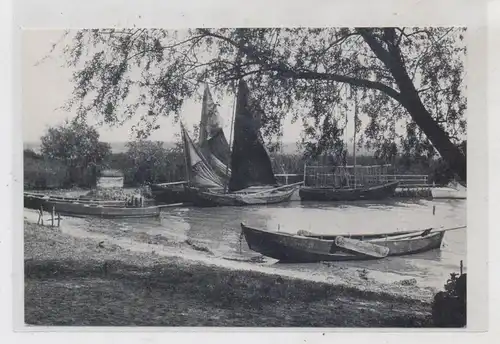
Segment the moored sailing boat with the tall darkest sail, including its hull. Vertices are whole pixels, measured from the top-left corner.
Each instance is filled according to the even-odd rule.
[[[262,109],[250,97],[245,81],[240,80],[234,114],[234,142],[229,180],[222,190],[217,187],[188,187],[195,205],[239,206],[290,200],[302,182],[278,186],[260,133],[261,116]],[[200,160],[203,158],[200,157]],[[188,168],[191,170],[194,167],[192,163],[188,161]]]

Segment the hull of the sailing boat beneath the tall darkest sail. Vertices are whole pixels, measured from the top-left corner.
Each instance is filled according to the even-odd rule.
[[[187,187],[190,198],[198,207],[221,207],[221,206],[246,206],[246,205],[266,205],[288,202],[292,194],[297,189],[292,187],[287,190],[269,191],[265,193],[257,192],[263,189],[255,189],[251,192],[224,193],[221,191],[201,190]],[[256,194],[256,195],[253,195]]]

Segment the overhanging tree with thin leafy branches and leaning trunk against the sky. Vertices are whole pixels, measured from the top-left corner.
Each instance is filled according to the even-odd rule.
[[[68,33],[68,34],[71,34]],[[462,179],[466,133],[462,28],[266,28],[81,30],[64,46],[76,68],[68,107],[139,137],[177,116],[200,83],[219,95],[245,77],[264,109],[268,143],[285,117],[303,123],[312,155],[344,149],[355,104],[359,145],[390,159],[437,149]]]

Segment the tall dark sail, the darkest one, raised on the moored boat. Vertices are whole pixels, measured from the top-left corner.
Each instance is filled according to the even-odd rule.
[[[230,191],[277,184],[260,133],[261,115],[262,109],[250,98],[245,81],[240,80],[234,119]]]

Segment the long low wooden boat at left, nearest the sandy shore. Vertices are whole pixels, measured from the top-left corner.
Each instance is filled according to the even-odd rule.
[[[51,202],[49,209],[54,207],[55,212],[71,216],[96,216],[103,218],[138,218],[160,216],[161,206],[147,207],[104,207],[102,205]]]

